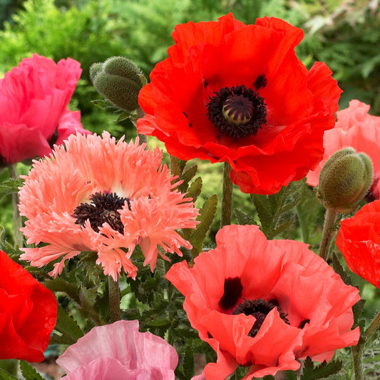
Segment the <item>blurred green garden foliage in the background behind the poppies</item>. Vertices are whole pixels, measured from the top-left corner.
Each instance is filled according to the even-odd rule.
[[[176,24],[209,21],[232,12],[246,24],[257,17],[276,16],[304,30],[297,54],[309,68],[324,61],[344,90],[340,108],[352,98],[371,105],[370,113],[380,115],[380,0],[0,0],[0,77],[22,58],[38,53],[54,61],[71,57],[81,62],[83,73],[71,102],[80,109],[86,129],[96,133],[109,130],[127,140],[135,129],[127,121],[115,123],[117,115],[96,108],[91,100],[99,98],[88,76],[92,63],[123,55],[135,61],[148,78],[155,63],[167,56],[173,43]],[[150,145],[159,145],[155,139]],[[168,157],[165,157],[168,160]],[[199,166],[203,188],[202,202],[217,193],[222,183],[222,166],[194,160]],[[27,173],[29,168],[21,166]],[[7,173],[0,173],[6,178]],[[237,189],[236,189],[237,190]],[[302,191],[310,192],[306,187]],[[245,210],[255,220],[255,207],[249,195],[235,191],[234,208]],[[308,241],[317,247],[324,209],[315,197],[309,202],[314,218]],[[313,201],[311,201],[313,199]],[[314,202],[315,201],[315,202]],[[306,202],[306,201],[305,201]],[[313,202],[311,204],[310,202]],[[0,202],[0,224],[11,237],[9,198]],[[220,212],[212,225],[211,237],[219,226]],[[308,217],[309,217],[308,216]],[[239,215],[234,215],[235,220]],[[300,217],[300,215],[297,215]],[[242,215],[240,215],[242,219]],[[244,218],[243,218],[244,219]],[[295,227],[286,235],[302,240]],[[212,238],[210,240],[212,244]]]

